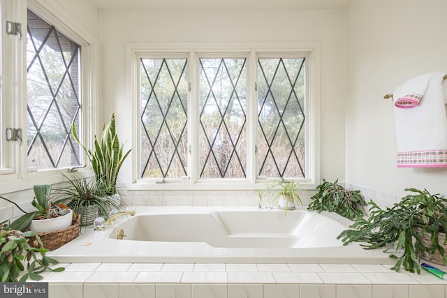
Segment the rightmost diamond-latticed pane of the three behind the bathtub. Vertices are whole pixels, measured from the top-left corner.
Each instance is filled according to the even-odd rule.
[[[258,174],[305,178],[305,59],[258,59]]]

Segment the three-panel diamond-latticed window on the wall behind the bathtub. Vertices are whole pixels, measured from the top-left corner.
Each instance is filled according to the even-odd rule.
[[[307,53],[135,57],[140,178],[308,178]]]

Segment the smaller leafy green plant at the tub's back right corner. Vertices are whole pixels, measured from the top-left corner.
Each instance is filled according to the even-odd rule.
[[[344,188],[338,184],[338,179],[334,182],[323,179],[323,183],[316,186],[316,190],[318,192],[312,195],[307,209],[318,212],[336,212],[349,219],[363,216],[360,207],[365,206],[366,202],[360,195],[360,191],[351,191]]]

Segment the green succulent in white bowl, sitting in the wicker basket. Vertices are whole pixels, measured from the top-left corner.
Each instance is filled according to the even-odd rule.
[[[52,232],[63,230],[71,226],[73,211],[53,204],[51,185],[35,185],[36,195],[31,204],[36,211],[20,216],[10,224],[12,230],[24,231],[26,228],[34,232]]]

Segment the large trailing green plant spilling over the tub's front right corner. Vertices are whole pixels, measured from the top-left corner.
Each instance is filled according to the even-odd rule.
[[[432,195],[426,189],[406,188],[411,192],[402,200],[381,209],[375,202],[369,202],[369,218],[356,218],[351,225],[352,230],[345,230],[338,239],[345,245],[352,242],[360,244],[365,249],[391,248],[397,254],[390,258],[397,260],[392,268],[399,271],[400,267],[410,272],[420,273],[420,255],[423,253],[439,253],[447,261],[444,248],[439,243],[439,234],[447,230],[447,199],[444,196]],[[423,236],[430,236],[431,245],[426,246]]]

